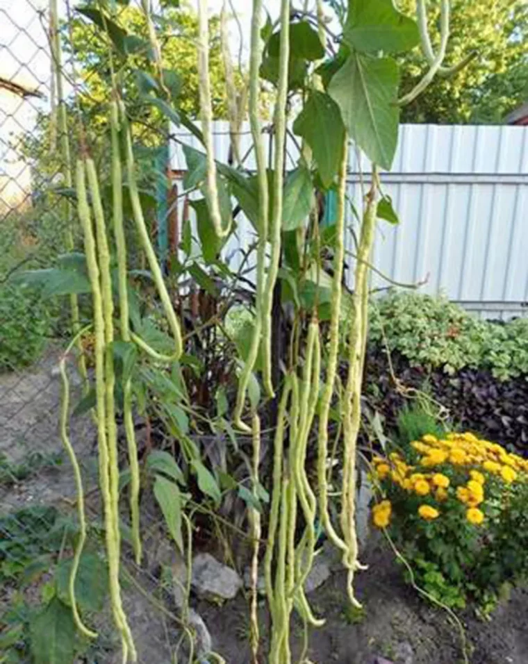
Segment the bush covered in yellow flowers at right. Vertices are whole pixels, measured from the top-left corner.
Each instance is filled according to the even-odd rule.
[[[472,433],[424,435],[373,461],[387,529],[415,580],[448,606],[492,608],[528,574],[528,460]]]

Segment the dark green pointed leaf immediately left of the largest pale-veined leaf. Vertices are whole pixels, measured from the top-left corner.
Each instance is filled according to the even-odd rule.
[[[311,147],[321,181],[329,188],[338,172],[345,140],[339,106],[329,94],[313,90],[293,123],[293,131]]]

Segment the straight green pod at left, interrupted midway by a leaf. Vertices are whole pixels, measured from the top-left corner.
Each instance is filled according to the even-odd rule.
[[[110,104],[112,140],[112,190],[113,190],[113,229],[117,253],[117,281],[119,288],[119,327],[124,342],[131,342],[129,322],[129,293],[126,280],[126,239],[123,225],[123,176],[119,154],[119,107],[114,99]],[[130,467],[130,513],[132,542],[135,562],[140,565],[142,546],[140,537],[140,469],[138,446],[132,417],[132,379],[128,376],[123,385],[123,420]]]

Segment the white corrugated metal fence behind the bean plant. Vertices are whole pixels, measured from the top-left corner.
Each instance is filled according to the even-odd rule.
[[[178,140],[199,149],[188,134]],[[249,126],[242,126],[241,153],[251,150]],[[217,159],[229,153],[229,126],[215,126]],[[176,142],[172,167],[184,169]],[[288,141],[288,168],[298,151]],[[251,153],[245,162],[254,167]],[[351,152],[349,196],[361,202],[361,172],[369,165]],[[382,176],[401,223],[380,222],[374,265],[394,281],[427,281],[422,292],[443,292],[479,315],[528,315],[528,127],[404,125],[393,169]],[[352,211],[349,220],[354,222]],[[249,222],[239,224],[237,243],[253,240]],[[352,235],[348,238],[352,249]],[[235,258],[236,260],[236,258]],[[374,274],[374,288],[386,286]]]

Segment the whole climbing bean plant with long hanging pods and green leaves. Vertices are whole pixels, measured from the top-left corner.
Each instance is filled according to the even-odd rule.
[[[213,501],[213,510],[220,505],[222,492],[220,474],[207,467],[206,456],[201,454],[190,434],[191,426],[198,427],[192,423],[196,420],[196,404],[190,402],[186,388],[189,367],[195,374],[204,371],[204,367],[192,357],[192,337],[197,331],[188,335],[182,332],[181,307],[175,306],[178,284],[188,271],[201,288],[201,299],[192,300],[192,312],[206,306],[209,301],[206,295],[213,297],[217,293],[218,274],[232,276],[229,267],[222,262],[222,248],[236,232],[236,217],[241,212],[254,226],[256,235],[254,288],[250,289],[249,297],[252,328],[247,352],[231,360],[231,374],[236,375],[238,381],[236,394],[230,398],[229,378],[225,378],[225,384],[221,383],[216,392],[219,415],[211,429],[215,433],[221,424],[235,439],[246,436],[244,440],[248,440],[251,447],[251,454],[245,454],[250,466],[249,478],[238,490],[247,503],[252,549],[253,661],[259,661],[261,653],[257,620],[257,582],[261,565],[272,620],[266,661],[273,664],[291,661],[290,616],[294,609],[307,627],[324,624],[324,616],[315,615],[304,592],[320,534],[316,531],[317,524],[321,524],[327,538],[340,551],[347,570],[349,601],[361,608],[354,592],[354,576],[363,569],[355,529],[356,443],[368,331],[370,261],[379,219],[395,217],[390,199],[382,193],[380,169],[390,169],[393,162],[399,109],[427,88],[442,67],[449,36],[449,0],[442,0],[437,52],[427,33],[424,2],[418,3],[418,22],[400,13],[392,0],[335,4],[339,11],[331,21],[331,13],[322,0],[317,0],[314,11],[310,3],[303,3],[300,8],[290,0],[281,0],[277,20],[268,17],[265,21],[263,0],[252,2],[247,90],[240,99],[231,99],[229,113],[231,137],[236,143],[233,128],[240,126],[246,113],[247,96],[256,172],[249,172],[245,167],[236,144],[231,152],[238,157],[229,165],[217,161],[213,149],[207,0],[197,1],[201,126],[181,113],[168,94],[165,72],[160,66],[162,42],[156,36],[148,1],[142,2],[147,17],[147,40],[127,34],[119,26],[114,3],[101,0],[80,8],[99,28],[100,37],[106,40],[108,47],[112,84],[106,109],[112,192],[106,200],[101,189],[103,174],[98,172],[91,154],[92,146],[85,138],[82,115],[75,112],[78,125],[75,140],[79,142],[79,149],[75,151],[79,154],[75,168],[76,219],[83,235],[79,249],[84,277],[83,287],[78,288],[78,292],[91,294],[92,320],[88,329],[79,329],[72,297],[73,343],[81,348],[78,342],[83,336],[88,331],[94,335],[94,385],[90,406],[98,429],[99,485],[104,506],[110,604],[124,662],[137,661],[137,648],[119,583],[121,516],[116,417],[122,410],[129,458],[129,508],[135,560],[138,564],[142,562],[141,478],[134,410],[145,414],[150,408],[160,415],[167,435],[172,438],[172,449],[178,449],[177,456],[184,464],[184,470],[171,466],[165,479],[160,481],[157,477],[154,483],[154,495],[167,529],[175,546],[183,551],[182,524],[190,523],[192,511],[188,508],[190,494],[182,489],[185,487],[188,491],[190,476],[195,476],[201,494]],[[53,20],[56,21],[56,16]],[[222,33],[225,40],[226,31]],[[400,94],[395,54],[400,57],[419,44],[429,68],[413,89]],[[55,42],[55,51],[57,48]],[[197,215],[201,261],[197,263],[192,258],[196,238],[192,237],[188,225],[183,226],[180,249],[186,256],[185,262],[182,265],[179,259],[174,261],[175,267],[168,274],[160,267],[152,244],[136,177],[133,118],[127,113],[123,76],[131,51],[150,54],[151,69],[143,72],[151,81],[145,103],[154,104],[175,124],[183,124],[201,144],[200,149],[185,148],[188,172],[184,181],[184,187],[201,194],[201,198],[191,203]],[[57,52],[55,60],[60,63]],[[269,133],[270,163],[265,158],[261,117],[263,87],[273,91],[274,99]],[[75,92],[76,97],[81,95],[81,90]],[[231,97],[233,94],[236,92],[231,90]],[[64,122],[64,113],[62,104],[61,122]],[[299,144],[299,158],[295,168],[287,172],[286,137],[291,133],[290,120],[294,120],[292,131]],[[372,163],[370,172],[363,174],[363,201],[358,210],[359,229],[351,267],[354,273],[352,293],[343,283],[351,144]],[[336,195],[337,208],[329,228],[324,229],[317,201],[328,192]],[[232,199],[236,199],[234,209]],[[129,209],[125,211],[126,202]],[[150,317],[133,301],[131,292],[129,240],[124,232],[129,222],[135,227],[135,238],[150,280],[149,297],[156,310],[156,315]],[[71,251],[69,238],[68,243],[67,249]],[[331,269],[327,256],[331,256]],[[287,320],[282,313],[286,304],[291,314]],[[213,315],[216,323],[218,317],[218,313]],[[281,321],[288,323],[283,344],[279,339]],[[163,340],[161,347],[149,335],[153,324],[157,326],[157,339]],[[212,324],[206,322],[204,326]],[[222,333],[225,336],[224,329]],[[66,351],[65,359],[71,348]],[[345,375],[338,374],[340,356],[345,358]],[[76,468],[67,435],[68,390],[64,362],[65,405],[61,429]],[[185,371],[182,367],[186,367]],[[186,376],[188,381],[185,381]],[[211,376],[207,373],[204,380],[210,381]],[[122,390],[120,400],[116,396],[116,381]],[[164,385],[163,392],[158,394],[163,394],[163,398],[156,398],[154,390],[160,385]],[[336,420],[339,422],[336,442],[341,470],[337,516],[329,504],[328,478],[329,434],[334,431],[332,424]],[[263,421],[273,432],[269,503],[261,483],[265,481],[263,474],[266,472],[261,463]],[[311,454],[312,451],[315,454]],[[314,457],[315,473],[311,472]],[[174,462],[174,458],[172,460]],[[76,542],[71,567],[69,601],[77,628],[86,637],[93,638],[94,631],[84,624],[77,611],[74,592],[84,540],[83,488],[78,470],[76,478],[81,537]],[[236,487],[236,481],[224,474],[220,485],[233,490],[233,483]],[[192,533],[191,528],[188,530]],[[186,547],[190,547],[190,537],[187,540]],[[221,660],[214,654],[211,657]],[[302,661],[307,661],[306,653]]]

